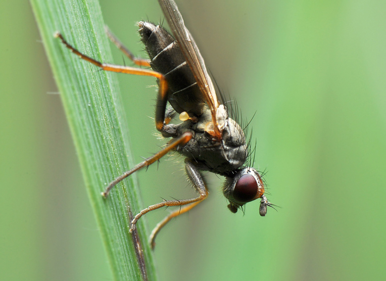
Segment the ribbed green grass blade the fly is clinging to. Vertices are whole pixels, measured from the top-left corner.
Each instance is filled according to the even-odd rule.
[[[80,60],[53,37],[60,31],[80,51],[111,62],[112,56],[97,0],[31,0],[51,64],[89,197],[115,280],[155,280],[145,226],[129,233],[130,210],[142,203],[135,178],[117,185],[107,199],[100,192],[131,166],[119,89],[110,73]],[[139,243],[136,242],[138,239]],[[141,249],[136,246],[139,244]]]

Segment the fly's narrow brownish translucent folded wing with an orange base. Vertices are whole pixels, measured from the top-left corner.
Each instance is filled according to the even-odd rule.
[[[219,101],[205,67],[204,60],[195,44],[192,35],[185,27],[184,19],[174,0],[158,0],[162,12],[169,24],[171,32],[182,50],[184,57],[191,68],[197,85],[208,103],[213,122],[214,137],[221,140],[222,133],[217,118]]]

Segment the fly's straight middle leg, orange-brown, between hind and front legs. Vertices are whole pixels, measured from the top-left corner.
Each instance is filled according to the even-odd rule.
[[[192,140],[193,138],[193,134],[190,133],[190,132],[187,132],[187,133],[184,133],[183,135],[181,135],[181,137],[175,139],[175,140],[172,140],[172,142],[170,142],[165,148],[163,148],[161,151],[157,152],[156,154],[154,154],[153,156],[145,159],[145,161],[141,162],[140,164],[138,164],[137,166],[135,166],[133,169],[123,173],[122,175],[120,175],[118,178],[116,178],[114,181],[112,181],[108,187],[106,188],[105,191],[103,191],[101,194],[103,197],[107,197],[108,193],[110,192],[110,190],[116,185],[118,184],[119,182],[121,182],[122,180],[126,179],[127,177],[129,177],[131,174],[133,174],[134,172],[137,172],[138,170],[141,170],[142,168],[144,167],[147,167],[151,164],[153,164],[155,161],[161,159],[161,157],[163,157],[165,154],[167,154],[169,151],[171,150],[174,150],[177,146],[179,145],[185,145],[188,141]]]

